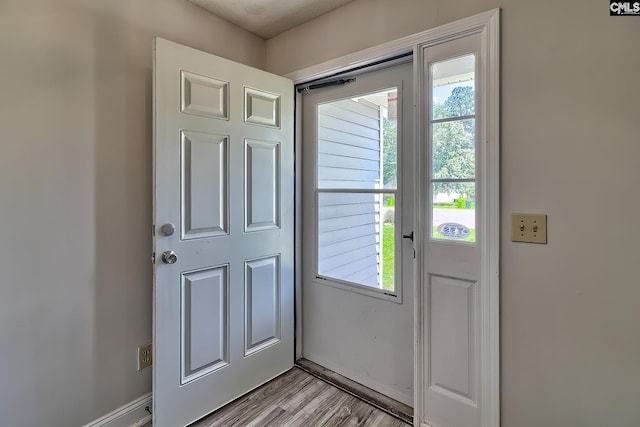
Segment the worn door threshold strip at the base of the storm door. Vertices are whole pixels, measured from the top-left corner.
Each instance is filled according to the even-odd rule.
[[[386,412],[387,414],[404,421],[407,424],[413,425],[413,408],[405,405],[402,402],[398,402],[382,393],[378,393],[375,390],[365,387],[347,377],[344,377],[337,372],[327,369],[318,365],[310,360],[301,358],[295,363],[297,367],[303,371],[319,378],[334,387],[339,388],[345,393],[349,393],[352,396],[361,399],[368,404],[375,406],[376,408]]]

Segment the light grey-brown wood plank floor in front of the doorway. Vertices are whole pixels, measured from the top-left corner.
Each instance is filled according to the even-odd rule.
[[[299,368],[293,368],[190,427],[408,425]]]

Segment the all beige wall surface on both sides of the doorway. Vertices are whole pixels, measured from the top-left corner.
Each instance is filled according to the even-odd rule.
[[[503,426],[640,425],[640,18],[595,0],[356,0],[266,43],[286,73],[501,7]],[[151,40],[248,65],[184,0],[0,1],[0,425],[77,426],[150,391]]]

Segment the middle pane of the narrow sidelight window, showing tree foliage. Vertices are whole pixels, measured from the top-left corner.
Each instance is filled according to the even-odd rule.
[[[433,178],[475,178],[475,119],[433,123],[431,139]]]

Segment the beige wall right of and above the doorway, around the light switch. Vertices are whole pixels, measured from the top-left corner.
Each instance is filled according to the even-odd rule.
[[[502,8],[502,425],[640,425],[640,17],[595,0],[356,0],[267,41],[288,73]],[[509,240],[549,215],[549,244]]]

